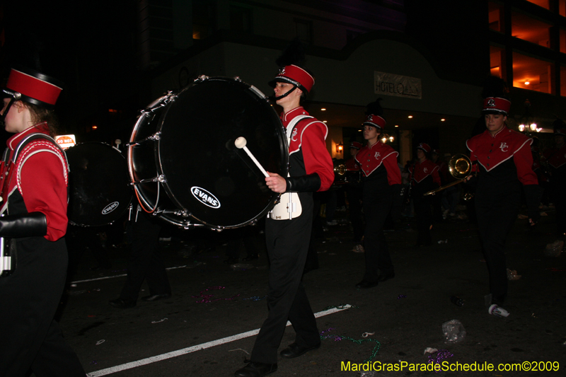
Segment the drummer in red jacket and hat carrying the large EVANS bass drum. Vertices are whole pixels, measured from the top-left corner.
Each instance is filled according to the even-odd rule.
[[[273,192],[296,192],[301,214],[270,216],[265,224],[270,277],[267,306],[269,313],[255,340],[250,363],[234,373],[236,377],[260,377],[277,370],[277,349],[287,320],[296,331],[295,342],[280,352],[291,359],[320,347],[320,336],[301,277],[313,223],[313,192],[325,191],[334,181],[333,162],[326,149],[326,124],[308,115],[301,106],[314,85],[313,75],[304,67],[283,63],[270,82],[275,102],[283,108],[281,120],[289,142],[289,176],[268,173],[267,187]],[[287,197],[287,195],[285,195]],[[287,206],[287,202],[281,203]]]

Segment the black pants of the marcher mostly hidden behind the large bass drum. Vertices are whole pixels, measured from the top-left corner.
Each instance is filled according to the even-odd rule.
[[[138,212],[137,221],[132,224],[132,253],[128,260],[128,276],[120,298],[136,301],[144,279],[149,294],[171,294],[171,286],[161,255],[158,253],[161,224],[149,215]]]

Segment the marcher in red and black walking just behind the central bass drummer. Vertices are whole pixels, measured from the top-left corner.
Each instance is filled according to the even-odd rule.
[[[371,288],[395,277],[393,262],[383,234],[395,196],[400,196],[401,171],[397,165],[398,152],[383,144],[380,135],[386,125],[379,100],[368,105],[363,123],[366,146],[355,156],[364,173],[362,207],[366,219],[364,250],[366,269],[356,288]]]

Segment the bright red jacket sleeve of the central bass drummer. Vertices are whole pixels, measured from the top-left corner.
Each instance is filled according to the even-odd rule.
[[[301,149],[307,174],[317,173],[320,177],[318,191],[326,191],[334,182],[334,164],[326,149],[326,125],[322,122],[309,124],[301,135]]]

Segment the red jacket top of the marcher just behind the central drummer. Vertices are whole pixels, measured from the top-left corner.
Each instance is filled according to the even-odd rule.
[[[374,145],[364,146],[354,157],[364,173],[365,180],[376,180],[381,185],[401,184],[401,170],[397,165],[398,152],[381,140]]]

